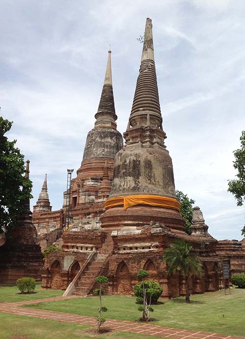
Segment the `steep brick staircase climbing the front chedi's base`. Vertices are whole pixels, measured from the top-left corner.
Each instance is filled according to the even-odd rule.
[[[108,254],[98,254],[97,257],[92,261],[88,270],[83,274],[77,281],[75,286],[74,295],[87,296],[93,292],[95,284],[95,278],[99,276],[101,268],[106,261]]]

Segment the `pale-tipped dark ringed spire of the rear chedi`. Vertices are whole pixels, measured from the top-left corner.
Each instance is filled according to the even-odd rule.
[[[111,122],[115,124],[117,115],[115,113],[113,87],[112,87],[112,75],[111,75],[111,51],[108,51],[108,60],[105,72],[104,85],[98,105],[98,112],[95,115],[97,121],[96,125],[101,122],[108,125]]]

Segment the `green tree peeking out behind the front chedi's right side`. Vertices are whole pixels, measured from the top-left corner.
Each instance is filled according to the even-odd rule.
[[[186,233],[192,234],[192,211],[195,200],[189,199],[187,194],[184,194],[181,191],[176,191],[176,197],[180,202],[180,214],[185,219]]]

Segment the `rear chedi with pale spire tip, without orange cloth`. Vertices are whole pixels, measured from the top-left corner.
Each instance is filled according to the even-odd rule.
[[[72,180],[73,230],[100,227],[99,216],[104,212],[104,201],[110,192],[115,155],[123,147],[123,137],[116,124],[111,51],[108,52],[104,84],[95,118],[95,127],[87,136],[81,167]],[[68,207],[67,194],[68,192],[64,194],[64,209]]]

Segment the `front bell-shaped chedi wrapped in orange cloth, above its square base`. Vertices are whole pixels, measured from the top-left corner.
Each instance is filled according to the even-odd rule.
[[[164,144],[166,133],[162,127],[150,19],[146,23],[140,73],[123,136],[126,143],[116,155],[112,190],[106,212],[101,216],[102,227],[118,229],[156,221],[184,231],[172,159]]]

